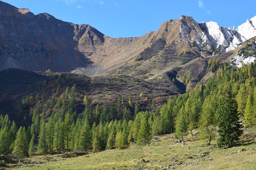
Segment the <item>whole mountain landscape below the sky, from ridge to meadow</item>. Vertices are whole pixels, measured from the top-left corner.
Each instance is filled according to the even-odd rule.
[[[93,170],[207,169],[209,161],[252,169],[255,59],[256,16],[236,30],[180,16],[116,39],[0,1],[0,166],[74,169],[68,157],[80,156]],[[227,156],[217,146],[244,162],[220,163]]]

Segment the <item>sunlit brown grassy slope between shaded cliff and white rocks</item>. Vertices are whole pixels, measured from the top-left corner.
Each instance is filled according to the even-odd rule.
[[[193,49],[190,42],[191,38],[196,39],[199,25],[191,17],[183,17],[168,20],[156,32],[141,37],[114,39],[104,36],[104,43],[96,43],[94,48],[89,49],[91,53],[88,58],[93,64],[74,72],[101,74],[112,69],[110,74],[160,75],[200,57],[199,49]],[[182,34],[182,25],[191,27],[191,32]],[[85,38],[86,34],[78,43],[79,50],[83,52],[88,50],[83,46],[82,40]],[[187,55],[179,55],[185,49]],[[141,56],[141,60],[135,62],[137,56]]]

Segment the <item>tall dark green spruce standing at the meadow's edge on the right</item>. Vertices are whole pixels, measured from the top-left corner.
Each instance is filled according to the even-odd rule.
[[[237,103],[231,85],[224,89],[223,99],[219,103],[219,147],[232,147],[242,134],[242,125],[239,121]]]

